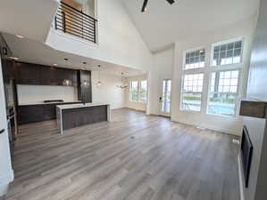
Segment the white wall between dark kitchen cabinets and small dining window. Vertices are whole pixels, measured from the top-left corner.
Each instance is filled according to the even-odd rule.
[[[96,84],[100,79],[102,85],[97,87]],[[124,90],[117,87],[121,85],[121,76],[113,76],[100,72],[92,71],[92,100],[93,102],[109,103],[111,108],[124,108]]]

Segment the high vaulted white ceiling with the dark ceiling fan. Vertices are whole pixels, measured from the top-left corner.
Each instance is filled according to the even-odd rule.
[[[258,11],[259,0],[121,0],[152,52],[187,38],[245,20]]]

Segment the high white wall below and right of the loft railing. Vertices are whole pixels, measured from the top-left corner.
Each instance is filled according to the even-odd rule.
[[[98,45],[67,34],[59,34],[54,28],[51,28],[46,44],[55,50],[148,71],[152,66],[152,53],[121,1],[98,0],[96,15]]]

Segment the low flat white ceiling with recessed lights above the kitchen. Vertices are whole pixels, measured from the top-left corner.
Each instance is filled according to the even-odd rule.
[[[19,61],[42,64],[60,68],[88,69],[100,70],[103,73],[113,76],[140,76],[146,74],[145,71],[140,71],[134,68],[122,67],[113,63],[108,63],[100,60],[93,60],[81,57],[75,54],[56,51],[46,44],[30,40],[27,38],[18,38],[10,34],[4,34],[4,39],[13,52],[13,57],[19,58]],[[69,59],[65,61],[64,58]],[[87,62],[86,65],[83,62]],[[98,65],[101,65],[98,68]]]

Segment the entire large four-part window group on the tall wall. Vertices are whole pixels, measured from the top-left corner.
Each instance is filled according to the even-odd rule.
[[[236,116],[243,45],[240,38],[212,44],[209,62],[204,48],[185,53],[180,109]]]

